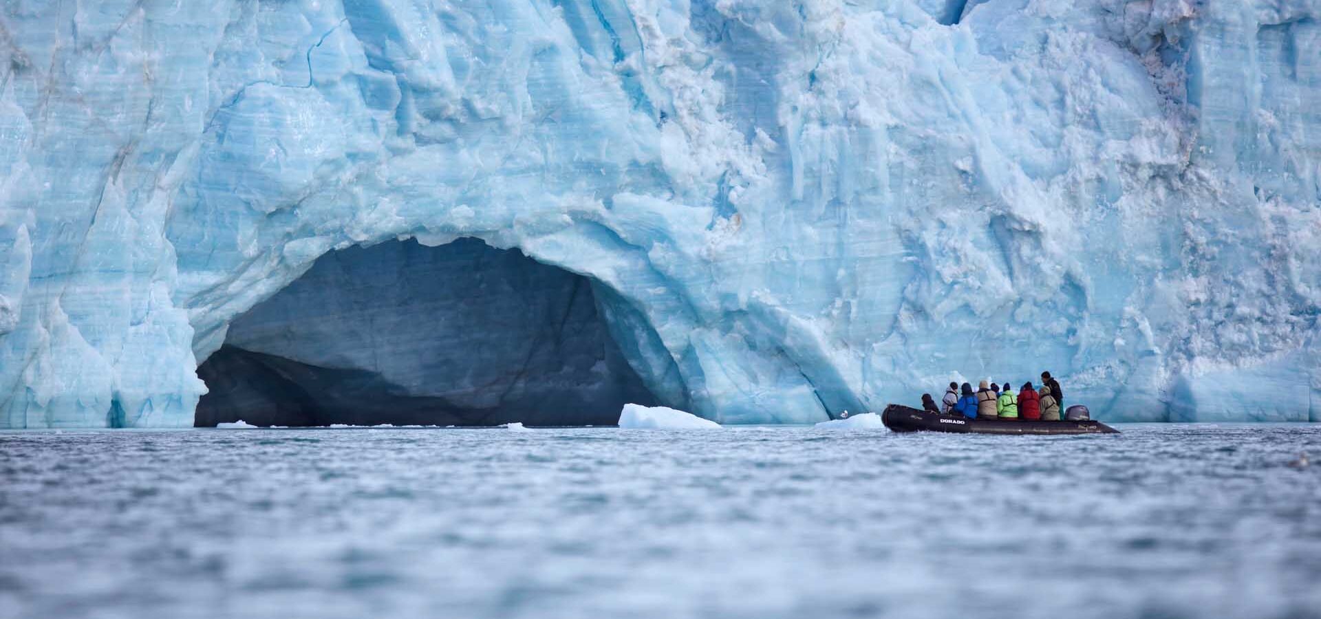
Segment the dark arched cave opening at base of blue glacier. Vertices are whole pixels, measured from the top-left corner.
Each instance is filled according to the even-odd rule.
[[[608,425],[662,404],[600,284],[477,239],[321,256],[198,367],[194,425]]]

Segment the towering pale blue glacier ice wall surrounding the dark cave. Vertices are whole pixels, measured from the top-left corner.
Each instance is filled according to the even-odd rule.
[[[1107,420],[1321,420],[1318,16],[8,3],[0,426],[192,425],[320,256],[460,238],[585,277],[659,403],[724,422],[1041,370]]]

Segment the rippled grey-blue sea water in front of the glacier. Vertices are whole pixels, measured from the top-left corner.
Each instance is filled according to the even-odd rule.
[[[1321,616],[1321,428],[0,434],[4,618]]]

